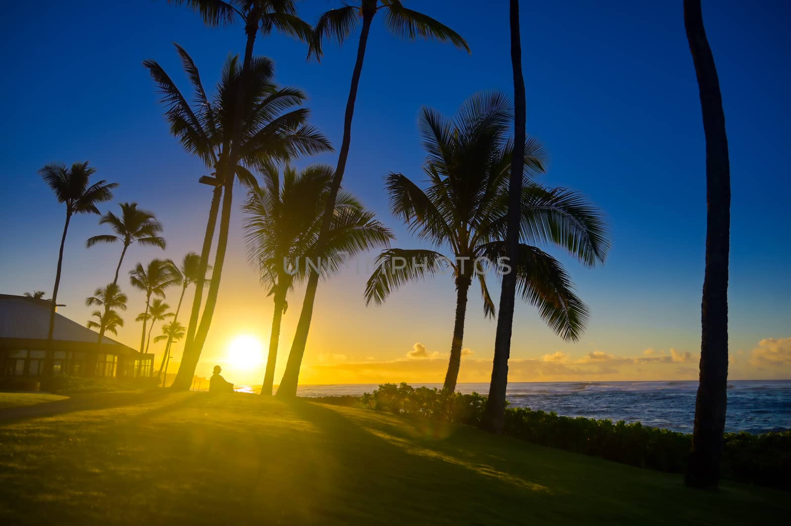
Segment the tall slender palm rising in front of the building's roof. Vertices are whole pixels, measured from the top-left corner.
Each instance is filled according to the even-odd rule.
[[[60,273],[63,265],[63,246],[66,244],[66,232],[69,222],[74,214],[99,214],[97,203],[112,199],[112,189],[118,183],[108,183],[100,180],[90,184],[95,168],[84,163],[74,163],[71,168],[66,165],[51,164],[39,170],[39,175],[44,182],[55,192],[58,202],[66,204],[66,223],[63,225],[63,235],[60,238],[60,251],[58,252],[58,267],[55,271],[55,287],[52,290],[52,305],[50,308],[49,329],[47,330],[47,348],[51,346],[52,333],[55,331],[55,307],[58,304],[58,288],[60,286]]]

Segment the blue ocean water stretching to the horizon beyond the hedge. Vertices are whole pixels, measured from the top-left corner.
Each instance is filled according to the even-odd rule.
[[[426,385],[441,388],[442,384]],[[297,395],[359,396],[377,384],[301,385]],[[460,392],[489,391],[489,384],[458,384]],[[237,385],[238,392],[259,392],[259,386]],[[506,398],[511,407],[554,411],[564,416],[642,422],[644,426],[691,433],[695,381],[653,382],[514,382]],[[791,380],[730,380],[726,431],[766,433],[791,429]]]

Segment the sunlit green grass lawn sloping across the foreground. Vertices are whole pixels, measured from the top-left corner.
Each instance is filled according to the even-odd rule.
[[[92,396],[101,396],[101,393]],[[791,495],[257,395],[0,422],[0,524],[759,524]],[[787,523],[785,523],[787,524]]]

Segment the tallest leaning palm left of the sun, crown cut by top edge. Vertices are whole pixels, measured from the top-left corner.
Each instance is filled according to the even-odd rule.
[[[217,252],[214,256],[214,274],[212,275],[213,279],[209,286],[209,293],[206,297],[206,307],[203,309],[203,316],[200,320],[200,326],[198,326],[198,317],[200,313],[200,303],[202,301],[202,284],[199,283],[195,291],[195,300],[193,300],[192,304],[190,323],[187,327],[187,342],[184,344],[184,358],[181,361],[176,380],[173,382],[173,387],[177,389],[188,389],[190,387],[192,377],[195,374],[195,366],[198,365],[198,359],[200,358],[203,343],[206,341],[206,335],[208,335],[211,319],[214,315],[214,307],[217,304],[220,278],[222,276],[222,266],[223,263],[225,263],[225,249],[228,244],[228,231],[233,201],[233,173],[236,170],[239,160],[244,159],[245,157],[244,153],[239,147],[243,135],[243,123],[251,123],[257,120],[248,119],[248,117],[251,116],[251,111],[258,111],[259,115],[261,116],[267,115],[263,118],[263,121],[266,123],[269,123],[271,119],[272,124],[278,123],[278,121],[280,121],[280,123],[278,123],[274,129],[269,131],[269,134],[263,134],[263,136],[259,137],[259,139],[266,139],[272,138],[271,134],[273,133],[277,134],[278,127],[282,127],[284,130],[288,129],[291,134],[293,134],[294,131],[297,131],[298,134],[299,130],[297,130],[297,125],[301,126],[305,122],[301,119],[296,119],[295,122],[295,119],[293,118],[289,121],[286,115],[290,114],[281,115],[279,118],[275,118],[282,111],[275,109],[278,108],[276,105],[278,100],[275,101],[275,104],[260,104],[262,107],[261,109],[266,110],[268,108],[270,110],[269,113],[259,111],[259,104],[255,104],[255,102],[251,104],[252,101],[256,100],[255,86],[248,84],[250,84],[250,81],[256,77],[255,62],[260,62],[260,60],[255,61],[253,59],[252,52],[255,45],[255,37],[257,36],[258,32],[261,32],[263,36],[268,36],[274,29],[291,36],[296,36],[302,41],[306,41],[312,36],[312,28],[297,16],[297,8],[293,0],[229,0],[228,2],[224,2],[223,0],[169,1],[175,4],[186,4],[187,6],[191,7],[191,9],[197,11],[201,15],[204,23],[209,26],[214,27],[219,25],[229,25],[233,24],[234,22],[241,21],[244,25],[244,33],[246,35],[244,59],[242,60],[241,71],[232,71],[236,77],[233,81],[233,92],[225,93],[225,100],[239,101],[239,104],[225,104],[225,108],[228,110],[225,112],[225,117],[226,119],[229,119],[225,122],[225,127],[223,128],[226,133],[224,138],[225,140],[217,143],[223,145],[223,153],[225,153],[225,155],[219,156],[218,161],[215,161],[215,165],[217,166],[215,174],[217,175],[217,178],[214,181],[214,184],[216,185],[214,198],[218,199],[219,201],[220,185],[223,185],[225,193],[223,195],[222,202],[222,215],[220,220],[220,233],[218,235]],[[184,59],[184,55],[186,55],[186,53],[183,54],[182,59],[185,68],[189,69],[187,74],[191,78],[193,85],[196,85],[196,90],[199,92],[199,102],[201,102],[205,107],[207,104],[206,96],[203,94],[205,92],[203,91],[202,86],[200,86],[198,70],[195,68],[195,64],[192,62],[192,60],[188,59],[188,55],[188,60]],[[157,79],[155,78],[155,80]],[[157,82],[159,83],[159,81]],[[166,93],[166,97],[168,96],[167,93],[174,93],[172,89],[169,89],[169,87],[163,87],[161,83],[159,84],[161,89],[163,89],[163,91]],[[172,82],[170,84],[172,84]],[[172,87],[175,87],[175,85]],[[230,88],[231,86],[228,85],[227,87]],[[177,89],[176,92],[178,92]],[[282,101],[287,100],[286,97],[276,98]],[[258,100],[263,102],[266,99],[262,98]],[[180,97],[180,100],[177,104],[175,104],[175,106],[169,101],[168,104],[170,104],[170,110],[168,110],[168,114],[172,113],[174,107],[182,108],[182,110],[184,109],[184,106],[188,107],[186,101],[184,101],[184,97]],[[292,107],[293,105],[295,104],[286,104],[282,107],[282,109]],[[263,108],[263,106],[266,106],[266,108]],[[255,110],[253,108],[255,108]],[[177,113],[183,113],[183,111]],[[168,115],[168,117],[169,116],[170,115]],[[176,133],[176,129],[180,128],[183,131],[185,127],[184,125],[177,122],[179,120],[184,121],[184,119],[181,119],[178,115],[174,116],[176,119],[171,119],[172,131],[174,134],[178,135],[179,133]],[[307,119],[306,114],[305,119]],[[190,123],[191,126],[189,127],[191,128],[199,128],[199,126],[195,126],[199,123],[195,122],[194,120],[189,120],[186,122]],[[293,125],[293,127],[290,127],[290,125]],[[266,129],[267,127],[262,128]],[[270,126],[269,128],[272,127]],[[303,128],[305,128],[304,130],[301,130],[303,133],[308,132],[307,134],[309,135],[310,132],[312,132],[312,130],[308,130],[307,127],[303,126]],[[323,136],[322,139],[324,139]],[[184,139],[182,139],[182,142],[184,143]],[[316,146],[316,144],[314,144],[310,146],[308,150],[318,151],[330,149],[329,143],[326,142],[326,139],[324,139],[324,142],[324,145]],[[233,148],[230,146],[233,146]],[[267,156],[263,155],[259,158],[263,159],[265,157]],[[229,176],[226,174],[229,174]],[[206,237],[204,237],[203,249],[201,252],[201,274],[206,273],[206,266],[208,265],[211,239],[214,236],[214,224],[216,219],[216,210],[214,211],[214,217],[212,217],[210,210],[210,218],[206,226]],[[184,372],[182,372],[182,370]]]

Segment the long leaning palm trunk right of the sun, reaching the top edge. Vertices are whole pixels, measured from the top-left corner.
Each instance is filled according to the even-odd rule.
[[[360,33],[360,43],[357,48],[357,61],[354,62],[354,72],[351,76],[351,87],[349,89],[349,99],[346,100],[346,115],[343,119],[343,142],[341,143],[338,155],[338,165],[335,167],[335,176],[332,178],[330,194],[327,196],[327,205],[324,209],[324,218],[321,221],[321,230],[316,244],[316,254],[320,254],[324,249],[327,236],[330,231],[332,214],[335,212],[335,199],[343,180],[343,172],[346,170],[346,160],[349,157],[349,147],[351,144],[351,121],[354,116],[354,101],[357,100],[357,90],[360,85],[360,75],[362,73],[362,63],[365,59],[365,45],[368,44],[368,33],[371,28],[371,21],[376,11],[363,11],[362,31]],[[302,301],[302,311],[300,312],[297,331],[291,344],[289,359],[286,362],[286,372],[278,387],[278,396],[293,397],[297,395],[297,383],[299,381],[299,370],[302,365],[302,357],[305,355],[305,345],[308,343],[308,331],[310,331],[310,321],[313,316],[313,305],[316,302],[316,288],[319,286],[319,274],[312,270],[308,276],[308,285],[305,287],[305,300]]]

